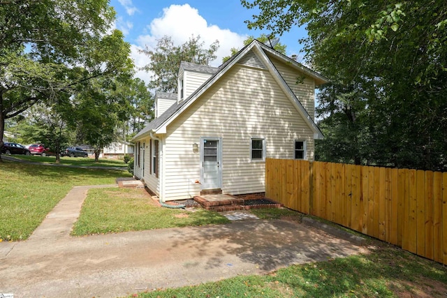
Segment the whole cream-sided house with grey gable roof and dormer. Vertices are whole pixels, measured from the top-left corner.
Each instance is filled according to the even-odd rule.
[[[177,100],[133,137],[135,177],[162,201],[263,193],[265,158],[314,159],[325,82],[257,40],[219,68],[182,62]]]

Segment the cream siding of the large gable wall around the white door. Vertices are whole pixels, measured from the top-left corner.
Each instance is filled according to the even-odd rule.
[[[256,135],[265,139],[266,158],[294,158],[294,141],[306,140],[307,159],[314,159],[314,134],[268,70],[236,64],[168,126],[164,200],[199,194],[200,153],[192,146],[200,137],[222,140],[223,193],[265,191],[265,163],[251,162]]]

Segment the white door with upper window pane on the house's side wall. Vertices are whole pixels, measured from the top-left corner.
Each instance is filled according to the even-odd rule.
[[[202,189],[221,188],[221,141],[216,138],[202,138]]]

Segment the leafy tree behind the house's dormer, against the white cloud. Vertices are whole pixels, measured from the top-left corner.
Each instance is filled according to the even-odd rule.
[[[183,45],[176,46],[170,36],[163,36],[157,40],[156,50],[147,47],[142,50],[149,57],[149,64],[143,67],[147,72],[153,73],[149,88],[163,92],[177,92],[177,78],[180,62],[186,61],[194,64],[209,65],[216,59],[219,41],[216,40],[208,49],[203,48],[200,36],[191,36]]]

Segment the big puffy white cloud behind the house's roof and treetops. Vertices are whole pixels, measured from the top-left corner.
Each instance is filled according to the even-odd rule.
[[[122,2],[124,0],[120,0]],[[204,42],[204,47],[209,47],[216,40],[219,40],[219,50],[217,50],[217,59],[212,61],[212,66],[219,66],[222,58],[230,54],[232,47],[242,48],[246,35],[240,35],[230,31],[229,29],[221,29],[216,25],[208,24],[207,21],[199,15],[196,8],[192,8],[189,4],[171,5],[163,8],[163,15],[158,17],[147,25],[148,34],[138,36],[137,45],[133,45],[132,57],[135,66],[142,67],[148,64],[147,56],[136,53],[138,48],[148,47],[154,50],[156,40],[163,36],[170,36],[175,45],[185,43],[191,36],[200,36],[200,41]],[[140,55],[143,55],[141,57]],[[147,75],[149,77],[150,75]],[[149,80],[145,80],[149,82]]]

